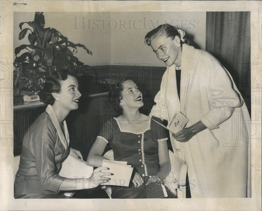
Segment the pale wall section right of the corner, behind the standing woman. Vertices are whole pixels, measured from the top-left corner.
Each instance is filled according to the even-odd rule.
[[[156,58],[152,48],[144,44],[145,35],[163,23],[185,30],[191,34],[198,48],[205,50],[205,12],[124,12],[111,13],[111,19],[117,20],[118,23],[124,20],[127,27],[125,30],[123,26],[111,30],[111,62],[114,60],[123,62],[125,58],[129,61],[128,57],[134,57],[142,65],[147,63],[151,66],[166,66]]]

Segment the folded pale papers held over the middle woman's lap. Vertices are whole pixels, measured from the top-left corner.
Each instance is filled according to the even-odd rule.
[[[114,175],[105,176],[111,178],[103,185],[117,185],[117,186],[129,186],[129,182],[132,176],[133,167],[131,165],[127,165],[127,162],[122,161],[114,161],[114,160],[103,160],[102,166],[106,166],[110,168],[110,170],[102,170],[102,171],[109,171]]]

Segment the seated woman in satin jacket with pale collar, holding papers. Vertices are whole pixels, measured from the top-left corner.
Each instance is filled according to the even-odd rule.
[[[59,191],[94,188],[109,179],[107,167],[94,170],[90,178],[69,179],[57,173],[61,163],[71,154],[83,159],[81,153],[69,148],[65,118],[78,109],[81,93],[78,81],[68,70],[49,75],[43,89],[43,112],[31,125],[23,139],[19,169],[15,175],[15,198],[66,198]],[[101,172],[106,170],[106,172]]]

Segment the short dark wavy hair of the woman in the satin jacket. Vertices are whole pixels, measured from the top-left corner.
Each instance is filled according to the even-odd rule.
[[[58,70],[57,72],[54,72],[46,77],[46,81],[42,89],[42,101],[45,104],[54,104],[55,99],[52,93],[61,92],[61,81],[67,80],[68,75],[75,77],[75,74],[72,71],[65,69]]]

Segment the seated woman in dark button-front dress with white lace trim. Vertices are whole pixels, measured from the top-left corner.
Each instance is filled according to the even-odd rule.
[[[107,143],[113,149],[114,160],[126,161],[134,172],[129,187],[112,187],[112,198],[172,198],[163,185],[171,169],[165,129],[156,117],[139,112],[142,94],[134,81],[117,81],[109,92],[122,114],[107,121],[96,138],[87,158],[88,165],[99,167]]]

